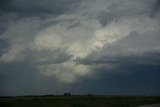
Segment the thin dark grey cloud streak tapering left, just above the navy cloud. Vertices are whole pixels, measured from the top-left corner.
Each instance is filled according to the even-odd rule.
[[[94,58],[96,55],[94,55]],[[93,65],[96,69],[108,69],[109,68],[117,68],[122,65],[160,65],[160,52],[146,52],[143,53],[142,56],[137,56],[137,55],[128,55],[128,56],[101,56],[99,58],[94,59],[93,56],[90,58],[86,59],[81,59],[78,62],[85,64],[85,65]],[[99,67],[100,65],[100,67]],[[96,67],[97,66],[97,67]],[[102,71],[102,70],[101,70]]]

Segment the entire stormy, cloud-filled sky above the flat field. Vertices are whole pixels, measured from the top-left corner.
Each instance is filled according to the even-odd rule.
[[[160,95],[160,0],[1,0],[0,95]]]

